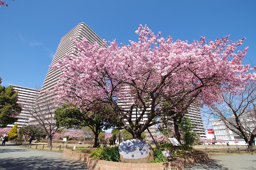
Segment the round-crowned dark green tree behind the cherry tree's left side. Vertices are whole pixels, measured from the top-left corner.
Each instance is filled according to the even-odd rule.
[[[85,109],[81,111],[72,103],[63,104],[61,108],[55,110],[54,119],[57,126],[70,128],[77,126],[78,128],[89,127],[94,133],[94,145],[98,146],[98,137],[102,129],[118,126],[117,117],[111,116],[113,110],[108,105],[97,105],[95,108]]]

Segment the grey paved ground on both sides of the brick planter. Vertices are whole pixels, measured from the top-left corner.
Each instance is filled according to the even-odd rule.
[[[208,162],[185,170],[256,170],[256,154],[210,156]],[[0,146],[0,170],[84,170],[86,164],[66,159],[62,152],[32,150],[6,142]]]

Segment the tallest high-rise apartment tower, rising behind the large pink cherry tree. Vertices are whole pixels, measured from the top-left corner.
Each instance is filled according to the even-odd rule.
[[[73,28],[70,32],[62,37],[51,65],[54,65],[58,63],[59,60],[64,59],[67,54],[76,55],[73,52],[73,50],[76,50],[76,46],[72,42],[72,39],[78,38],[79,40],[82,40],[84,37],[87,38],[89,43],[97,42],[102,44],[102,39],[97,34],[95,34],[86,24],[80,23],[78,26]],[[62,104],[62,101],[54,101],[54,94],[51,93],[55,91],[54,86],[58,83],[61,74],[62,73],[59,69],[49,68],[48,73],[46,74],[46,78],[44,79],[42,89],[40,90],[40,94],[38,96],[38,109],[40,111],[38,111],[37,114],[42,115],[42,117],[44,117],[45,120],[48,120],[48,122],[50,119],[53,119],[54,110],[56,110],[58,107],[61,107]],[[35,118],[30,119],[30,121],[32,124],[37,124]]]

